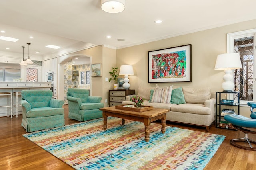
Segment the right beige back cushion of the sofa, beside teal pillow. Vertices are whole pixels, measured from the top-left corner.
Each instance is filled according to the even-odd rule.
[[[204,104],[211,97],[211,88],[182,88],[186,103]]]

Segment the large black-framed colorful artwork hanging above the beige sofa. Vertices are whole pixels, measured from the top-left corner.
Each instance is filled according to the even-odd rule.
[[[192,82],[192,45],[148,51],[148,82]]]

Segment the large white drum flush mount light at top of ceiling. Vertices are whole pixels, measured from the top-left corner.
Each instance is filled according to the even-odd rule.
[[[125,9],[124,0],[101,0],[101,9],[108,13],[118,13]]]

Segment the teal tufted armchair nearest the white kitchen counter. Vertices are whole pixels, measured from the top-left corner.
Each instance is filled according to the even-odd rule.
[[[51,90],[22,90],[21,125],[27,132],[64,126],[64,100],[52,98]]]

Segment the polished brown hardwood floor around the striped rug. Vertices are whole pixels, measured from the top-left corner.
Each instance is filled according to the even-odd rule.
[[[65,124],[77,123],[78,121],[68,118],[68,105],[63,106],[65,109]],[[1,170],[69,170],[71,166],[62,162],[52,154],[46,152],[28,139],[22,137],[26,133],[20,125],[22,115],[18,118],[0,117],[0,169]],[[182,124],[166,125],[206,132],[205,128],[189,126]],[[103,128],[103,127],[102,127]],[[225,135],[226,139],[220,145],[216,154],[204,170],[255,170],[256,169],[256,152],[248,151],[233,147],[230,145],[230,139],[244,137],[239,131],[231,131],[210,128],[209,133]],[[256,140],[256,135],[250,135],[251,139]]]

